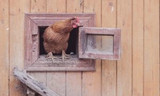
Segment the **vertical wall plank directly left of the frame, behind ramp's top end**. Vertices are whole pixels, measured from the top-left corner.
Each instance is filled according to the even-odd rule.
[[[23,88],[13,76],[13,68],[24,65],[24,13],[30,11],[30,0],[10,0],[10,95],[23,96]]]

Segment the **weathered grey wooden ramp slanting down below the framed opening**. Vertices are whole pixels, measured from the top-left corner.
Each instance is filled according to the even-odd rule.
[[[14,76],[20,80],[25,86],[27,86],[27,94],[28,96],[35,96],[35,93],[38,93],[42,96],[60,96],[48,87],[46,87],[43,83],[35,80],[29,74],[18,70],[18,68],[14,68]]]

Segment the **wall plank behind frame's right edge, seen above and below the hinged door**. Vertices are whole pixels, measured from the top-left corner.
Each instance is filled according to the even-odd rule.
[[[96,26],[101,26],[101,0],[84,0],[83,6],[84,13],[96,14]],[[95,72],[83,72],[82,76],[82,96],[101,96],[101,60],[96,60]]]

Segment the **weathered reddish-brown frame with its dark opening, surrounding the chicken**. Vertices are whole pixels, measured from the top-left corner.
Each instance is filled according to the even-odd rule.
[[[78,46],[79,29],[70,32],[66,53],[70,58],[64,61],[60,54],[53,54],[58,58],[46,58],[43,46],[45,29],[55,22],[79,17],[83,26],[94,26],[95,14],[25,14],[25,69],[27,71],[94,71],[95,60],[80,59]],[[60,58],[59,58],[60,57]]]

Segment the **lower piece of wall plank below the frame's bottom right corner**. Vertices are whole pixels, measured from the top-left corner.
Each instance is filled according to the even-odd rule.
[[[95,72],[83,72],[82,96],[101,96],[101,62],[96,61]]]

